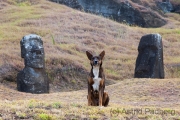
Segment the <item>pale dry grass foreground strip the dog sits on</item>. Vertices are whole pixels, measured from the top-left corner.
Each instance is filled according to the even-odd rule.
[[[1,84],[0,119],[179,120],[179,86],[180,79],[126,79],[106,87],[110,103],[99,108],[87,106],[87,90],[29,94]]]

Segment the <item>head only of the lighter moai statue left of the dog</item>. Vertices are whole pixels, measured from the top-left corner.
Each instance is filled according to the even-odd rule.
[[[24,36],[20,44],[25,66],[44,68],[44,48],[40,36],[35,34]]]

